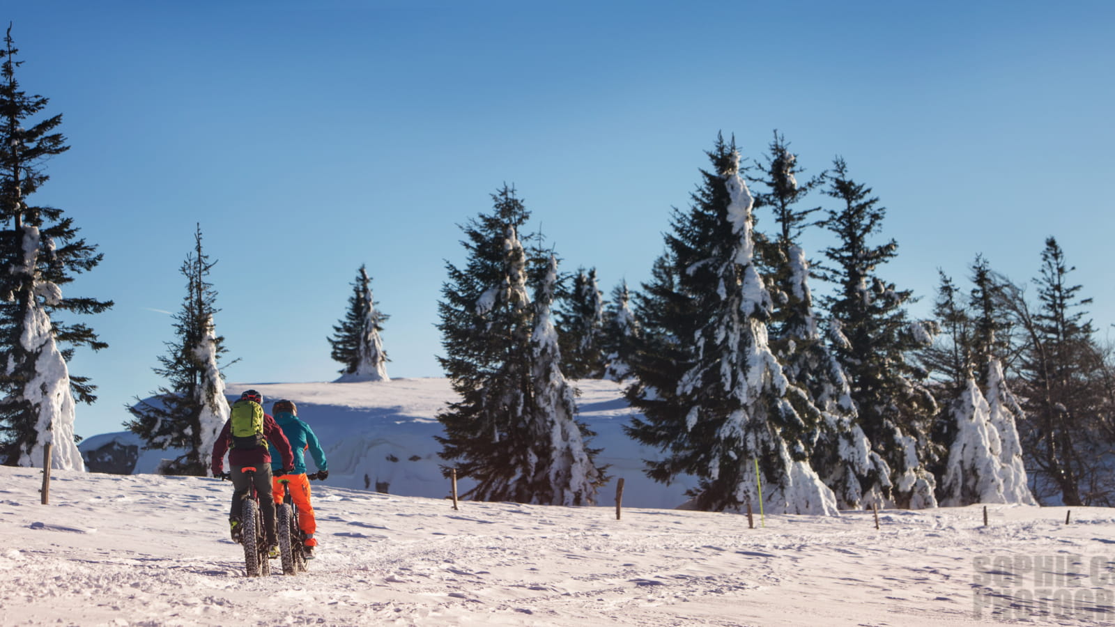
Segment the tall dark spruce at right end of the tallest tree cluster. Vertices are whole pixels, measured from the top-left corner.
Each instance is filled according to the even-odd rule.
[[[824,251],[833,264],[825,278],[837,284],[836,295],[824,299],[840,321],[832,329],[841,335],[833,350],[847,373],[859,424],[890,469],[890,502],[899,508],[934,507],[935,482],[923,457],[937,404],[922,383],[927,373],[909,357],[932,343],[935,325],[909,320],[903,305],[911,292],[896,290],[874,273],[898,254],[893,240],[878,247],[867,242],[885,215],[879,199],[849,176],[841,158],[827,181],[825,194],[842,204],[822,222],[837,239]]]

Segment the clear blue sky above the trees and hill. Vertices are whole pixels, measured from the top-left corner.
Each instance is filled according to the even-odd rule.
[[[327,336],[367,263],[392,377],[442,376],[435,328],[458,224],[514,185],[563,259],[609,293],[649,276],[717,132],[811,173],[842,155],[886,206],[922,297],[977,253],[1037,276],[1055,235],[1115,322],[1115,4],[1061,2],[52,1],[0,12],[25,90],[71,149],[36,201],[105,261],[68,287],[116,301],[79,351],[119,431],[185,296],[201,223],[229,382],[336,378]],[[816,204],[831,205],[815,195]],[[759,213],[759,230],[764,219]],[[809,234],[820,257],[822,233]],[[816,292],[826,287],[815,284]],[[1030,292],[1032,292],[1032,288]],[[270,406],[270,404],[269,404]]]

